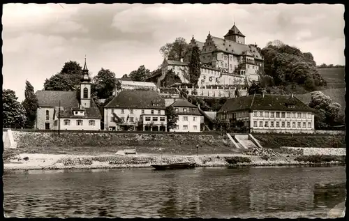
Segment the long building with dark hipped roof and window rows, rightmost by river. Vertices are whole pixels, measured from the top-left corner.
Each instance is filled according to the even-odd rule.
[[[295,96],[255,94],[232,98],[217,112],[218,119],[234,127],[243,121],[252,132],[314,132],[314,112]]]

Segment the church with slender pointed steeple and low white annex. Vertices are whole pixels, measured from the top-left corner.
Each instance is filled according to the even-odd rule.
[[[100,130],[101,112],[91,99],[91,79],[86,59],[77,91],[36,91],[38,109],[34,125],[39,130]]]

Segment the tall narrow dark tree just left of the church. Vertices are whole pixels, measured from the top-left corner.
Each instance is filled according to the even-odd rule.
[[[22,102],[22,106],[24,107],[26,113],[26,125],[29,128],[33,128],[34,121],[36,119],[36,109],[38,108],[38,98],[36,98],[34,87],[30,84],[30,82],[26,81],[25,84],[25,99]]]

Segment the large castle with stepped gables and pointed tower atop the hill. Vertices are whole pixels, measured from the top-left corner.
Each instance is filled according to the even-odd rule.
[[[235,24],[223,38],[209,33],[203,43],[193,36],[190,45],[199,47],[202,64],[198,86],[246,85],[260,79],[258,70],[263,68],[264,59],[256,44],[245,44],[245,37]],[[188,64],[183,59],[165,59],[161,74],[153,75],[147,81],[154,82],[158,87],[163,86],[161,82],[168,70],[173,70],[182,83],[188,83]]]

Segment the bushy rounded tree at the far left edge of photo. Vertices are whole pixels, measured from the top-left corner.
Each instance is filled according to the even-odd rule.
[[[15,91],[3,90],[2,91],[2,103],[3,103],[3,125],[10,127],[24,127],[26,121],[25,109],[20,102],[17,101]]]

